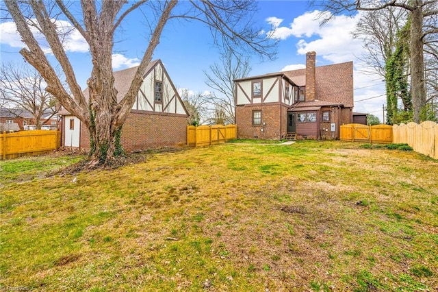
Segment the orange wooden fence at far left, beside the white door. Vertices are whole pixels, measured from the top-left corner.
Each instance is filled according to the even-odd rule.
[[[60,131],[33,130],[6,134],[0,139],[1,159],[36,155],[58,149],[61,145]]]

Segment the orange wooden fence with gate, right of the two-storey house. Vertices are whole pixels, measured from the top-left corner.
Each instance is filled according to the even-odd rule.
[[[342,141],[361,141],[369,143],[392,143],[391,125],[362,125],[360,123],[349,123],[341,125]]]

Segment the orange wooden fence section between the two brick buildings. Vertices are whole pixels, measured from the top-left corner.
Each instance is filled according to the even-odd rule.
[[[187,126],[187,145],[189,146],[214,145],[235,138],[237,138],[237,125]]]

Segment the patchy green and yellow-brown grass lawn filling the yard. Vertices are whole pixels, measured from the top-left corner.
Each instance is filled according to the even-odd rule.
[[[360,145],[227,143],[49,178],[21,159],[27,181],[0,162],[0,287],[437,291],[438,161]]]

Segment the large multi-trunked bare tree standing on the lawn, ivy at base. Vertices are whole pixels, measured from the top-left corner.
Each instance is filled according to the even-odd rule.
[[[259,29],[253,27],[251,21],[251,16],[257,8],[255,1],[184,1],[185,5],[190,3],[190,10],[173,15],[172,11],[177,3],[177,0],[141,0],[133,4],[129,4],[128,1],[90,0],[5,1],[18,32],[27,45],[26,48],[21,49],[21,54],[44,77],[47,82],[46,90],[88,127],[91,145],[90,166],[109,164],[115,156],[123,153],[118,137],[136,100],[142,84],[142,74],[151,62],[164,26],[170,19],[180,17],[201,21],[211,28],[218,45],[231,48],[245,47],[263,56],[272,56],[270,49],[274,44],[270,42],[270,38],[261,36]],[[118,101],[112,72],[114,38],[120,23],[140,6],[153,15],[147,21],[150,27],[146,27],[151,32],[149,43],[146,41],[148,45],[129,90],[123,99]],[[184,8],[185,6],[181,7],[181,10]],[[144,14],[148,15],[146,12]],[[57,19],[70,21],[90,47],[92,73],[87,82],[89,93],[87,97],[83,95],[77,83],[75,71],[63,47],[65,32],[57,27]],[[60,78],[55,74],[51,62],[31,32],[32,26],[40,31],[49,44],[53,56],[65,74],[68,88],[63,86]]]

